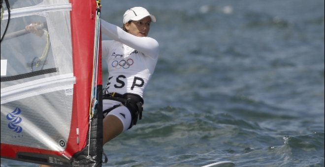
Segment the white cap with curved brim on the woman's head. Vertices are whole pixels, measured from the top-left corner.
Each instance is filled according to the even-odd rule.
[[[123,15],[123,24],[128,23],[130,20],[138,21],[147,16],[150,16],[152,22],[156,22],[156,17],[151,15],[147,9],[143,7],[133,7],[128,9]]]

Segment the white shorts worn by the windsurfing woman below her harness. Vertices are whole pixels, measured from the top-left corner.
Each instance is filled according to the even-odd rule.
[[[121,104],[121,103],[113,101],[113,100],[103,100],[103,111],[113,107],[114,105],[118,105],[118,104]],[[131,117],[131,113],[127,107],[125,107],[125,106],[117,107],[114,110],[108,112],[107,115],[114,115],[114,116],[118,117],[123,124],[123,131],[126,131],[129,129],[132,117]],[[107,115],[104,115],[104,116],[106,117]]]

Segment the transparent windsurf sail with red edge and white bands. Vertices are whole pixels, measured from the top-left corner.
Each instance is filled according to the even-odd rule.
[[[3,0],[4,9],[5,1],[10,8],[1,16],[1,158],[101,166],[98,3]],[[31,23],[44,33],[26,31]]]

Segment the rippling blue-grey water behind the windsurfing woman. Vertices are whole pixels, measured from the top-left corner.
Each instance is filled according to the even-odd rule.
[[[146,7],[161,46],[143,120],[104,146],[105,167],[325,166],[324,0],[102,5],[119,26]],[[1,159],[17,166],[36,165]]]

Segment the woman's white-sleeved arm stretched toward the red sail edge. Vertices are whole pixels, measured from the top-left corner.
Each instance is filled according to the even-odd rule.
[[[158,56],[159,43],[150,37],[137,37],[122,28],[101,20],[101,31],[108,37],[124,43],[147,56]]]

